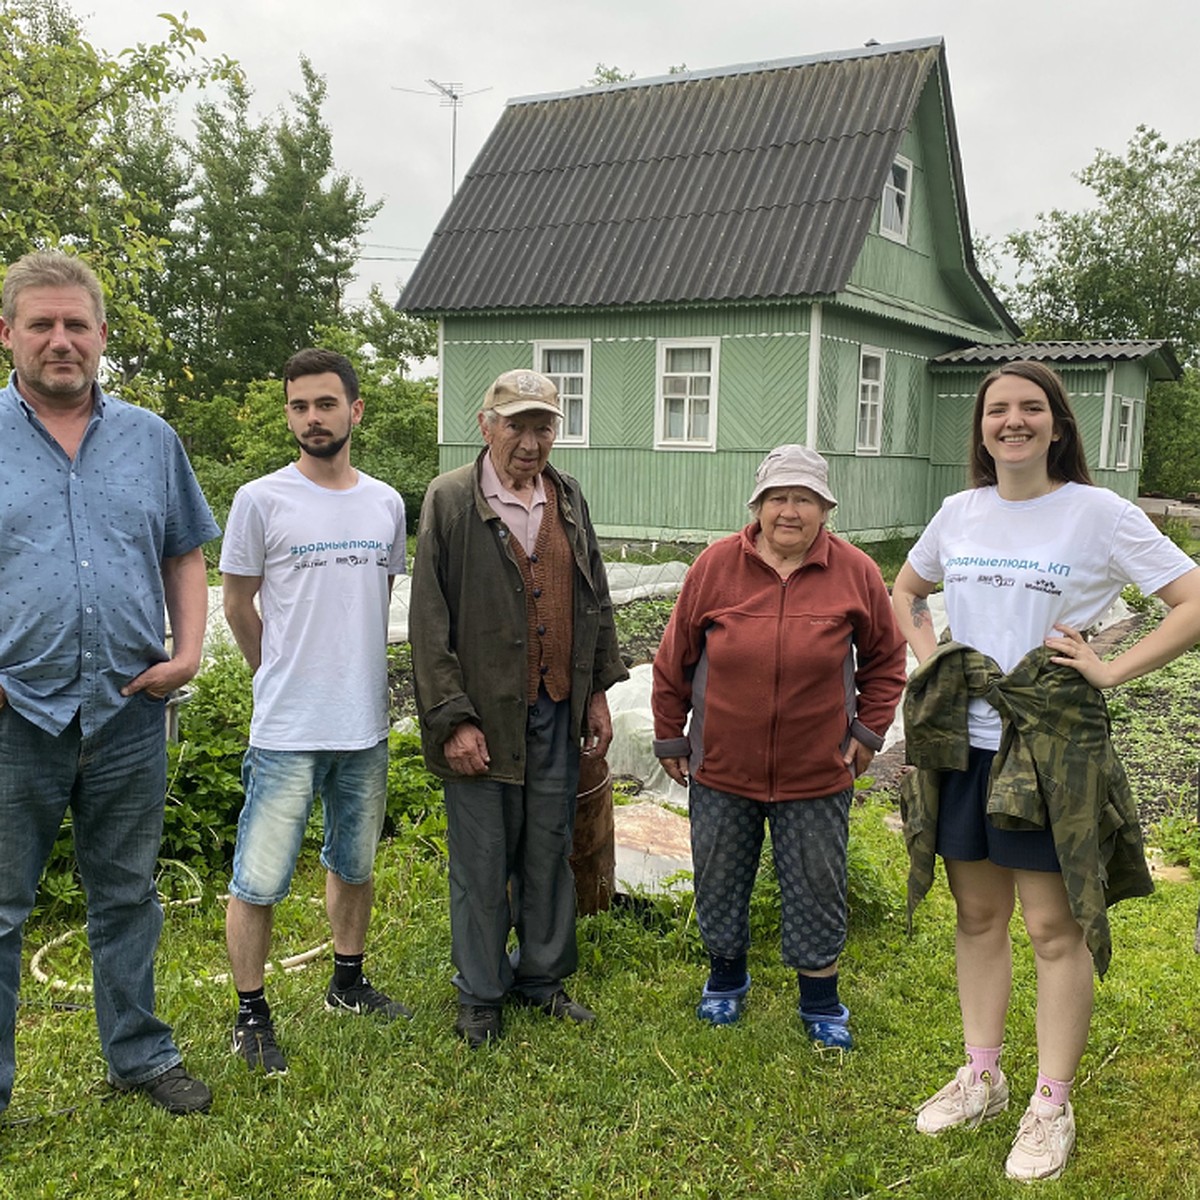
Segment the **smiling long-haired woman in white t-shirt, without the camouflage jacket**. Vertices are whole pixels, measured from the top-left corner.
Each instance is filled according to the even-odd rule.
[[[1006,672],[1044,643],[1056,652],[1052,662],[1111,688],[1200,641],[1200,569],[1136,505],[1092,485],[1054,371],[1018,361],[983,380],[970,466],[972,488],[946,499],[893,588],[896,618],[918,661],[936,647],[926,598],[942,582],[955,641]],[[992,562],[1003,563],[1003,571],[982,569]],[[1102,660],[1080,630],[1130,582],[1170,611],[1134,646]],[[986,817],[988,768],[1000,731],[996,710],[973,700],[971,767],[942,774],[937,851],[958,912],[967,1063],[922,1105],[917,1127],[936,1134],[1008,1106],[1000,1050],[1012,989],[1008,924],[1020,896],[1037,962],[1038,1082],[1006,1170],[1013,1178],[1056,1178],[1075,1142],[1069,1092],[1091,1022],[1092,959],[1050,830],[1002,832]]]

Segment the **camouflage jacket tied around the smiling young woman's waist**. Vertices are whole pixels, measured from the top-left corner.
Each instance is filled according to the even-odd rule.
[[[985,654],[946,642],[908,680],[910,772],[900,786],[908,845],[908,928],[934,880],[940,772],[967,766],[967,701],[983,697],[1003,722],[988,812],[1002,829],[1054,834],[1070,911],[1103,977],[1112,955],[1105,908],[1153,890],[1124,768],[1109,740],[1104,696],[1038,647],[1009,673]]]

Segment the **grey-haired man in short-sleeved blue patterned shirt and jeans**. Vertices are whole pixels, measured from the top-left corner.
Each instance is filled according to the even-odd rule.
[[[0,391],[0,1111],[22,928],[68,808],[109,1082],[203,1111],[212,1096],[154,1013],[154,875],[163,701],[199,667],[200,546],[220,530],[172,428],[96,384],[108,326],[91,270],[26,254],[0,311],[16,368]]]

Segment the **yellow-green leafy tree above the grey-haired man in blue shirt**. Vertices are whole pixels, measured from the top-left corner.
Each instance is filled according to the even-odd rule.
[[[108,295],[112,349],[158,344],[143,284],[161,269],[157,199],[118,167],[127,122],[188,84],[232,78],[197,56],[200,30],[162,14],[167,35],[113,56],[83,37],[62,0],[0,5],[0,271],[32,248],[77,248]]]

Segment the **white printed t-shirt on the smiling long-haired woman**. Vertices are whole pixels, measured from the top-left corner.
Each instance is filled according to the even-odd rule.
[[[1003,500],[995,487],[948,496],[908,563],[944,583],[955,641],[1006,672],[1056,624],[1098,620],[1126,584],[1148,595],[1196,565],[1136,504],[1084,484],[1032,500]],[[970,733],[974,746],[1000,745],[1000,716],[985,701],[971,702]]]

